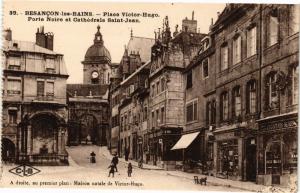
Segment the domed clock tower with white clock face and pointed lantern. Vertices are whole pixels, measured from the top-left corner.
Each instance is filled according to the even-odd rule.
[[[104,46],[100,26],[94,37],[94,44],[86,51],[83,64],[83,84],[109,84],[111,57]]]

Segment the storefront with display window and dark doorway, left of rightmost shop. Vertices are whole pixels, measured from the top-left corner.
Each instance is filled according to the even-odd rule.
[[[213,131],[214,175],[231,180],[256,180],[256,140],[252,128],[233,124]]]

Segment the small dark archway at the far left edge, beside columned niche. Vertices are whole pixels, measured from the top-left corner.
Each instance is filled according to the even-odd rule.
[[[1,158],[4,163],[15,160],[15,144],[8,138],[2,138]]]

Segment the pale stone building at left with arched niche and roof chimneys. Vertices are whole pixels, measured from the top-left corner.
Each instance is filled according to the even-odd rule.
[[[37,29],[36,42],[4,31],[2,160],[65,165],[66,80],[63,55],[53,51],[53,34]]]

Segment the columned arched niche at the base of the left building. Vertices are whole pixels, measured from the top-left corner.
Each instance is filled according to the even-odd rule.
[[[26,115],[18,127],[18,162],[62,165],[67,164],[66,123],[53,112]]]

